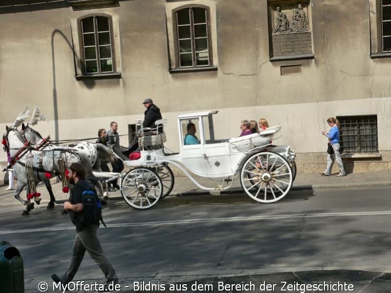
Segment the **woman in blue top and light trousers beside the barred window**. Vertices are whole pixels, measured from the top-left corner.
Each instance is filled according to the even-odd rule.
[[[331,144],[334,152],[332,154],[327,154],[326,170],[321,172],[320,174],[330,176],[331,169],[333,168],[334,162],[336,161],[340,169],[339,173],[336,176],[346,176],[344,163],[342,163],[341,154],[339,152],[339,122],[334,117],[330,117],[327,119],[327,123],[328,126],[331,127],[331,129],[330,131],[328,131],[328,133],[326,133],[326,131],[322,131],[322,134],[328,138],[329,144]]]

